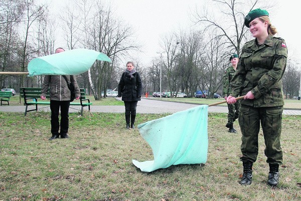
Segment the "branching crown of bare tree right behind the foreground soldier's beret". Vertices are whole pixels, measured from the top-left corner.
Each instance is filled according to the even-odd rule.
[[[211,0],[211,9],[214,7],[218,10],[219,16],[214,16],[210,9],[196,11],[194,22],[204,26],[204,30],[210,33],[217,33],[217,36],[225,37],[229,55],[233,52],[239,54],[241,44],[244,44],[250,36],[246,35],[247,27],[244,26],[245,15],[251,10],[264,6],[261,0]],[[264,2],[267,5],[267,2]]]

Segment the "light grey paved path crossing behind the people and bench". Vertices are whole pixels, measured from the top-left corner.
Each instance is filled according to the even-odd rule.
[[[121,98],[116,98],[121,99]],[[160,114],[160,113],[176,113],[190,108],[197,107],[196,104],[184,104],[176,102],[167,102],[162,100],[141,98],[137,104],[137,113],[140,114]],[[35,107],[32,106],[32,109]],[[77,112],[80,106],[70,107],[70,112]],[[76,110],[75,110],[76,109]],[[87,107],[84,108],[87,110]],[[50,111],[49,107],[39,106],[41,111]],[[0,106],[0,112],[25,112],[25,106]],[[91,106],[91,112],[102,113],[124,113],[124,106]],[[228,113],[225,106],[211,106],[208,108],[209,113]],[[301,110],[283,110],[283,115],[301,115]]]

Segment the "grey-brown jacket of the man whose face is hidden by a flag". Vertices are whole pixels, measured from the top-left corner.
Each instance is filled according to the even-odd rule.
[[[74,85],[75,97],[80,97],[80,90],[77,85],[74,75],[65,75],[68,82]],[[71,78],[72,76],[72,78]],[[68,88],[67,82],[62,75],[45,75],[41,95],[46,97],[48,88],[50,88],[50,100],[70,100],[71,92]]]

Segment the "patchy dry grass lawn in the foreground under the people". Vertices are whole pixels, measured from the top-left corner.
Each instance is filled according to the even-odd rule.
[[[136,121],[165,115],[138,114]],[[137,129],[124,128],[124,114],[70,114],[70,138],[49,141],[50,113],[0,113],[0,200],[301,200],[301,116],[283,116],[284,162],[278,187],[269,187],[262,132],[253,183],[238,183],[240,130],[235,122],[238,133],[227,132],[226,115],[208,116],[204,166],[145,173],[131,160],[153,160],[153,152]]]

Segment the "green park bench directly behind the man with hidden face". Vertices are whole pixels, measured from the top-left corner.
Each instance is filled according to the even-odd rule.
[[[50,101],[41,100],[38,101],[38,98],[41,98],[41,89],[42,88],[30,88],[30,87],[22,87],[20,88],[20,95],[24,98],[24,104],[26,106],[25,108],[25,116],[27,112],[31,111],[38,111],[38,105],[48,105],[50,106]],[[49,89],[46,94],[46,98],[50,98]],[[70,106],[81,106],[81,113],[80,115],[83,115],[83,108],[88,106],[90,111],[90,106],[92,103],[90,103],[90,100],[86,98],[86,90],[84,88],[80,88],[80,102],[76,102],[76,99],[74,99],[73,102],[70,102]],[[35,109],[28,109],[28,106],[36,106]],[[75,108],[73,108],[75,109]],[[77,109],[75,109],[77,110]]]

